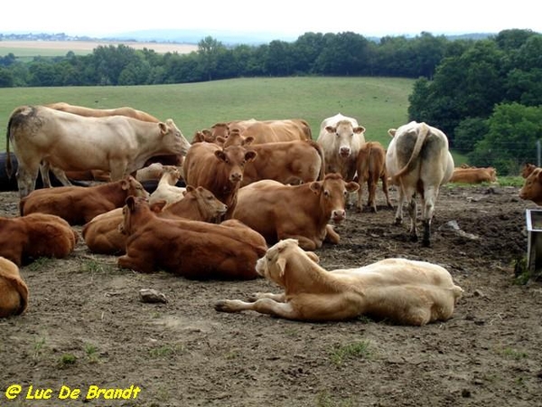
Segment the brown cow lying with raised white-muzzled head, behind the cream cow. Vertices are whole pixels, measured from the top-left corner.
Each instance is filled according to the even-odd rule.
[[[359,187],[334,173],[302,185],[257,181],[239,189],[233,218],[261,233],[269,243],[294,238],[305,250],[315,250],[323,241],[340,241],[329,222],[344,221],[346,196]]]

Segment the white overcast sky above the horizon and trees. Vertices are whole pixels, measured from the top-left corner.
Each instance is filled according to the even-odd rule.
[[[498,33],[510,28],[542,33],[536,0],[13,0],[2,2],[2,33],[107,36],[147,29],[216,29],[233,33],[307,32],[364,36]],[[212,33],[210,33],[212,34]]]

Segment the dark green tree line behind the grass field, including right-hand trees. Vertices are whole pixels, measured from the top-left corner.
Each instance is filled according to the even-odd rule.
[[[304,33],[292,43],[226,46],[211,36],[188,54],[98,46],[88,55],[0,57],[0,87],[116,86],[242,77],[382,76],[416,79],[409,119],[441,128],[474,166],[517,174],[537,163],[542,137],[542,34],[505,30],[477,39],[421,33],[378,41]]]

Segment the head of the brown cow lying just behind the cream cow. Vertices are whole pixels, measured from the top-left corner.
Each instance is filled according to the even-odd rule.
[[[336,173],[325,175],[323,181],[314,181],[310,185],[311,191],[320,196],[320,207],[324,216],[335,223],[346,219],[346,199],[349,193],[360,189],[360,185],[353,181],[344,182],[342,176]]]

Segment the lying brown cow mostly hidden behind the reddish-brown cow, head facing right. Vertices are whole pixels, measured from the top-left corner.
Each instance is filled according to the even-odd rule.
[[[184,198],[164,207],[164,202],[151,205],[151,210],[160,217],[178,217],[201,222],[218,222],[228,207],[210,191],[187,185]],[[124,254],[126,235],[118,226],[123,221],[123,208],[113,209],[96,216],[83,226],[82,235],[90,251],[101,254]]]

